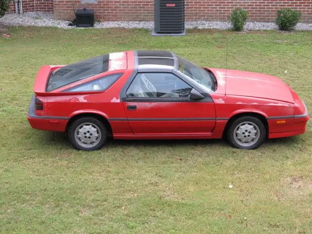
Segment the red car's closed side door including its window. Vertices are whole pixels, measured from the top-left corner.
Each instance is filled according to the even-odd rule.
[[[215,126],[214,102],[208,94],[191,99],[191,92],[196,91],[172,73],[137,73],[123,98],[133,133],[210,135]]]

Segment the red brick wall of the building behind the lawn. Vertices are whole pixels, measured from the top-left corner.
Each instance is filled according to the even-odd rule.
[[[96,4],[74,0],[74,7],[94,9],[96,20],[154,20],[153,0],[98,0]],[[250,21],[274,21],[278,9],[290,7],[302,12],[301,22],[312,23],[312,0],[185,0],[185,20],[224,21],[238,7],[249,11]],[[23,10],[53,11],[54,18],[59,20],[75,18],[72,0],[24,0]]]

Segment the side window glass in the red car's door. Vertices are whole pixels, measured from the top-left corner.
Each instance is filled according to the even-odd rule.
[[[192,87],[172,73],[138,73],[127,98],[187,98]]]

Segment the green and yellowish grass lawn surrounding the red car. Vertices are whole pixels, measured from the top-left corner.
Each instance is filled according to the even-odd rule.
[[[116,140],[83,152],[26,119],[40,66],[145,49],[217,68],[228,51],[228,68],[280,77],[311,111],[312,32],[0,30],[12,35],[0,37],[0,233],[312,233],[311,121],[304,135],[252,151],[225,140]]]

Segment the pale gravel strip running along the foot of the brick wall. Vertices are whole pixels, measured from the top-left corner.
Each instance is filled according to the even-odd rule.
[[[8,13],[0,18],[0,25],[5,26],[55,26],[59,28],[76,28],[68,26],[70,21],[54,20],[51,12],[25,12],[22,15],[16,13]],[[106,21],[95,22],[95,28],[146,28],[153,29],[153,21]],[[230,22],[223,21],[187,21],[186,28],[210,28],[210,29],[230,29]],[[277,30],[275,23],[265,22],[246,22],[244,30]],[[295,27],[298,31],[312,31],[312,23],[298,23]]]

